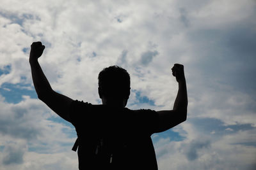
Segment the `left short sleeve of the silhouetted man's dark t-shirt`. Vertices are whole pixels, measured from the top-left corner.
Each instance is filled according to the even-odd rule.
[[[90,107],[92,104],[83,101],[72,101],[70,105],[70,122],[76,127],[81,120],[86,120],[86,115],[90,115]]]

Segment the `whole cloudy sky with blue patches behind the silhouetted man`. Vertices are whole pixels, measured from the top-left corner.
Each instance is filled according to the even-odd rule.
[[[0,6],[0,169],[77,169],[74,127],[37,99],[28,56],[52,89],[99,104],[97,75],[131,74],[128,108],[172,109],[184,64],[188,119],[152,140],[160,170],[256,169],[256,2],[18,1]]]

